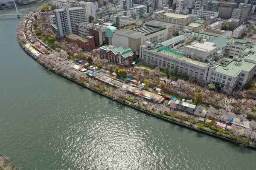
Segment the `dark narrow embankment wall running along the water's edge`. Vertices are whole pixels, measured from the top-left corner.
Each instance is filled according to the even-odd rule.
[[[22,45],[20,45],[20,46],[23,48]],[[41,64],[42,66],[44,66],[45,68],[47,68],[46,65],[44,65],[44,64],[41,63],[41,62],[39,62],[38,59],[36,59],[32,54],[30,54],[30,53],[29,53],[28,51],[26,51],[24,48],[23,48],[23,50],[24,50],[30,57],[32,57],[33,59],[35,59],[39,64]],[[49,68],[47,68],[47,69],[49,69]],[[157,118],[159,118],[159,119],[162,119],[162,120],[165,120],[165,121],[168,121],[168,122],[172,122],[172,123],[174,123],[174,124],[176,124],[176,125],[180,125],[180,126],[189,128],[189,129],[191,129],[191,130],[195,130],[195,131],[200,132],[200,133],[204,133],[204,134],[207,134],[207,135],[210,135],[210,136],[215,136],[215,137],[217,137],[217,138],[219,138],[219,139],[224,139],[224,140],[226,140],[226,141],[236,143],[235,140],[232,140],[232,139],[229,139],[229,138],[226,138],[226,137],[223,137],[223,136],[218,136],[218,135],[216,135],[216,134],[214,134],[214,133],[210,133],[210,132],[207,132],[207,131],[204,131],[204,130],[199,130],[199,129],[195,128],[195,127],[191,127],[191,126],[188,126],[188,125],[184,125],[184,124],[182,124],[182,123],[180,123],[180,122],[175,122],[175,121],[173,121],[173,120],[171,120],[171,119],[167,119],[167,118],[165,118],[165,117],[163,117],[163,116],[159,116],[159,115],[157,115],[157,114],[151,113],[151,112],[146,111],[146,110],[144,110],[144,109],[137,108],[137,107],[135,107],[135,106],[133,106],[133,105],[130,105],[130,104],[126,103],[126,102],[122,102],[122,101],[120,101],[120,100],[114,99],[114,98],[111,97],[111,96],[108,96],[108,95],[103,94],[103,93],[101,93],[101,92],[99,92],[99,91],[96,91],[96,90],[94,90],[93,88],[90,88],[90,87],[88,87],[88,86],[86,86],[86,85],[84,85],[84,84],[81,84],[81,83],[77,82],[76,80],[70,79],[70,78],[68,78],[68,77],[66,77],[66,76],[64,76],[64,75],[62,75],[62,74],[60,74],[60,73],[57,73],[57,72],[54,71],[54,70],[51,70],[51,69],[49,69],[49,70],[52,71],[52,72],[54,72],[54,73],[56,73],[56,74],[58,74],[58,75],[60,75],[61,77],[64,77],[64,78],[66,78],[66,79],[69,79],[69,80],[75,82],[76,84],[79,84],[79,85],[81,85],[81,86],[83,86],[83,87],[85,87],[85,88],[87,88],[87,89],[90,89],[91,91],[94,91],[94,92],[96,92],[97,94],[100,94],[100,95],[102,95],[102,96],[105,96],[105,97],[107,97],[108,99],[111,99],[111,100],[113,100],[113,101],[119,102],[119,103],[121,103],[121,104],[123,104],[123,105],[126,105],[126,106],[128,106],[128,107],[130,107],[130,108],[133,108],[133,109],[135,109],[135,110],[137,110],[137,111],[141,111],[141,112],[143,112],[143,113],[147,113],[147,114],[149,114],[149,115],[151,115],[151,116],[157,117]],[[248,147],[253,148],[253,149],[256,149],[256,147],[253,146],[253,145],[248,145]]]

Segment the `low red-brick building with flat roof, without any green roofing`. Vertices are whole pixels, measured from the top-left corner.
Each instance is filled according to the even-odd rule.
[[[64,38],[68,42],[75,42],[83,50],[93,50],[95,48],[93,36],[80,37],[72,33],[64,33]]]

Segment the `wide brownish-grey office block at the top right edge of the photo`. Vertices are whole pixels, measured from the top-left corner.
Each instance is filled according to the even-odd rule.
[[[220,5],[218,7],[218,17],[230,19],[235,7],[236,3],[220,2]]]

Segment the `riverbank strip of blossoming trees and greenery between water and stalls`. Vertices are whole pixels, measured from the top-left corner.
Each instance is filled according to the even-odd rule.
[[[24,29],[26,28],[28,21],[29,21],[29,18],[22,21],[23,25],[24,25]],[[32,24],[30,24],[29,26],[31,26],[30,31],[33,32]],[[102,80],[97,79],[95,77],[90,77],[83,72],[75,71],[73,68],[73,65],[67,67],[66,70],[64,70],[64,71],[63,70],[61,71],[60,69],[62,69],[64,67],[64,65],[66,65],[66,64],[64,62],[61,62],[61,59],[58,57],[58,55],[56,56],[56,54],[55,54],[56,52],[52,52],[50,54],[38,57],[38,55],[35,55],[34,53],[29,52],[28,49],[29,49],[30,43],[27,40],[27,37],[28,37],[27,32],[26,33],[24,32],[23,34],[22,34],[22,36],[26,37],[25,44],[27,45],[26,46],[26,45],[20,43],[23,50],[26,51],[26,53],[29,54],[29,56],[31,56],[33,59],[38,61],[39,64],[43,65],[48,70],[50,70],[58,75],[61,75],[62,77],[65,77],[73,82],[76,82],[77,84],[82,85],[85,88],[88,88],[92,91],[95,91],[96,93],[99,93],[105,97],[108,97],[109,99],[112,99],[116,102],[122,103],[123,105],[127,105],[128,107],[134,108],[138,111],[147,113],[151,116],[155,116],[157,118],[160,118],[160,119],[163,119],[163,120],[166,120],[169,122],[173,122],[177,125],[182,125],[183,127],[187,127],[187,128],[196,130],[201,133],[205,133],[205,134],[208,134],[211,136],[225,139],[230,142],[234,142],[237,144],[242,144],[245,146],[255,148],[254,141],[247,137],[244,137],[243,134],[241,134],[242,136],[236,137],[229,131],[227,131],[227,130],[224,131],[224,129],[221,127],[215,127],[215,126],[212,126],[212,124],[210,125],[210,124],[207,124],[204,122],[200,122],[199,120],[189,118],[188,114],[184,114],[185,115],[184,116],[183,113],[180,113],[180,112],[179,113],[176,112],[177,114],[167,112],[167,110],[165,110],[163,112],[162,108],[164,107],[164,105],[161,105],[161,104],[156,104],[156,105],[154,104],[154,106],[153,106],[153,103],[151,103],[150,105],[152,105],[152,107],[147,107],[147,106],[144,107],[144,106],[140,105],[140,102],[137,102],[137,103],[131,102],[131,101],[133,101],[133,99],[130,99],[130,98],[127,99],[127,96],[125,94],[126,91],[122,90],[119,87],[116,87],[115,85],[110,85],[108,83],[105,84],[105,82],[102,82]],[[26,48],[25,48],[25,46],[26,46]],[[31,49],[30,49],[30,51],[31,51]],[[42,60],[42,59],[44,59],[44,60]],[[55,62],[55,59],[57,62]],[[44,61],[44,63],[42,61]],[[47,62],[45,62],[45,61],[47,61]],[[58,68],[56,68],[56,65],[58,65]],[[69,74],[67,74],[67,71],[69,72]],[[96,80],[96,81],[94,81],[94,80]],[[101,83],[98,85],[98,83],[96,84],[97,81],[101,81]],[[102,88],[102,85],[103,85],[103,88]],[[105,86],[107,86],[107,89],[105,89]],[[113,89],[114,86],[115,86],[115,89]],[[118,88],[118,89],[116,89],[116,88]],[[104,90],[104,92],[102,90]],[[120,93],[113,95],[113,93],[112,94],[108,93],[108,91],[111,91],[113,93],[120,91]],[[124,98],[124,96],[126,98]],[[159,110],[155,109],[155,108],[160,108],[159,109],[160,113],[158,112]],[[166,108],[166,109],[170,110],[170,108]],[[174,111],[174,109],[173,109],[173,111]]]

